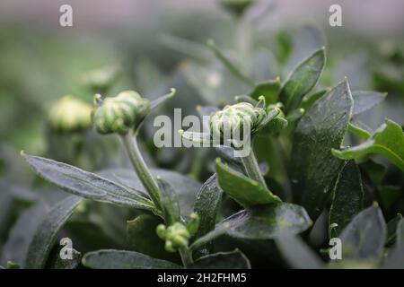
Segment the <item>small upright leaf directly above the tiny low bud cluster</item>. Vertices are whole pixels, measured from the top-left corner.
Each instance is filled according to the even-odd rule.
[[[171,185],[160,176],[156,178],[162,192],[162,216],[167,225],[180,221],[180,204],[177,194]]]

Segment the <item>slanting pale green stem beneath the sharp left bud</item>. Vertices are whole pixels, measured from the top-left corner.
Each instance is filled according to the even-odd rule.
[[[122,143],[124,143],[125,148],[127,149],[127,154],[132,162],[137,176],[139,177],[140,181],[142,181],[142,184],[145,186],[145,189],[147,190],[157,209],[161,210],[160,188],[145,164],[145,160],[143,159],[142,154],[139,151],[139,147],[137,146],[136,136],[127,133],[126,135],[121,135],[120,137],[122,139]]]

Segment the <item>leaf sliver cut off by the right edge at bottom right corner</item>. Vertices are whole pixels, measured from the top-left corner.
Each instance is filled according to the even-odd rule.
[[[404,220],[402,218],[397,223],[396,244],[385,259],[383,268],[404,269]]]

